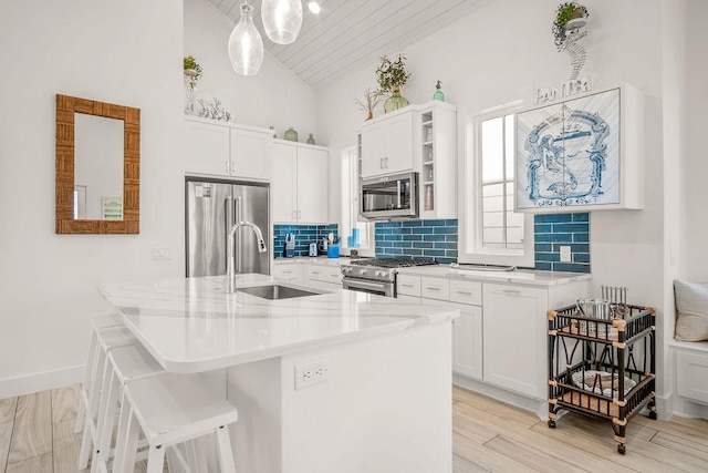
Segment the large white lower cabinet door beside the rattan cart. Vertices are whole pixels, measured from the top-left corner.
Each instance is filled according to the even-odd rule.
[[[483,284],[482,299],[485,381],[544,399],[548,291]]]

